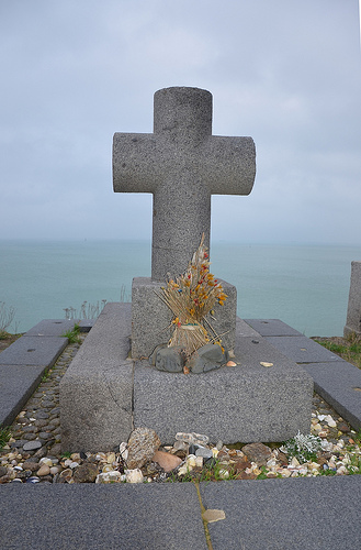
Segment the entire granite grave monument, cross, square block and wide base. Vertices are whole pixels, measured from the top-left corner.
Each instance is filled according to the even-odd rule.
[[[151,277],[134,278],[132,305],[105,306],[64,376],[64,451],[112,449],[144,426],[162,443],[179,431],[227,443],[308,432],[312,377],[236,317],[229,283],[214,328],[237,366],[184,375],[149,364],[172,319],[156,292],[185,271],[203,233],[208,245],[211,196],[248,195],[256,174],[251,138],[212,135],[208,91],[158,90],[154,116],[153,134],[116,133],[113,142],[114,190],[154,195]]]

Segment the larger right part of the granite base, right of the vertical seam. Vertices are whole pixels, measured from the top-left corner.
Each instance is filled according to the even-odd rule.
[[[261,337],[237,333],[235,351],[240,365],[204,374],[165,373],[136,362],[134,426],[151,427],[162,443],[172,443],[179,431],[226,443],[309,432],[312,377]]]

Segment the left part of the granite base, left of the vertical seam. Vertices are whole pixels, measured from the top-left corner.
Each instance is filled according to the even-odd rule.
[[[106,451],[132,431],[131,304],[106,304],[60,383],[64,452]]]

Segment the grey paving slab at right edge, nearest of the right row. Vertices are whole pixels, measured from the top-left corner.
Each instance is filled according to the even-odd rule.
[[[361,430],[361,370],[346,361],[302,365],[317,392],[354,430]]]

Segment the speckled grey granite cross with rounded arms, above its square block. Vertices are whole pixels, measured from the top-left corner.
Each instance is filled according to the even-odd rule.
[[[212,94],[206,90],[158,90],[154,133],[114,134],[114,191],[154,196],[153,280],[183,273],[202,233],[208,246],[211,196],[248,195],[255,175],[251,138],[212,135]]]

